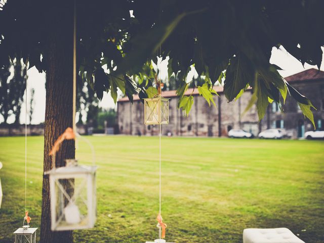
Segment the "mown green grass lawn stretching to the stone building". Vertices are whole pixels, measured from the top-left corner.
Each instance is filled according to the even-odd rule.
[[[98,165],[98,219],[75,242],[157,238],[158,138],[88,137]],[[43,137],[28,137],[28,207],[40,227]],[[171,242],[242,242],[248,227],[287,227],[324,241],[324,142],[162,138],[163,206]],[[13,242],[24,217],[24,138],[0,138],[4,198],[0,242]],[[79,142],[79,163],[91,151]],[[39,234],[39,232],[38,232]],[[61,242],[63,243],[63,242]]]

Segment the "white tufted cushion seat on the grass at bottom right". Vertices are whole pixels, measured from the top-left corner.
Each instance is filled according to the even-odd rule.
[[[243,243],[305,243],[287,228],[245,229]]]

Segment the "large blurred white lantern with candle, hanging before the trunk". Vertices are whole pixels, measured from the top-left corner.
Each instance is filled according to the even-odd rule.
[[[75,159],[65,161],[65,167],[46,173],[50,175],[51,229],[93,228],[97,214],[97,167],[79,166]]]

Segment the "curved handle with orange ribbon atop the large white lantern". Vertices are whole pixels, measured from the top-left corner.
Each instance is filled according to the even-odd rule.
[[[93,147],[93,145],[90,143],[90,141],[82,136],[80,136],[78,133],[74,133],[73,132],[73,129],[72,128],[67,128],[64,133],[62,133],[58,139],[55,141],[49,155],[52,155],[52,168],[55,168],[55,156],[56,156],[56,153],[57,151],[59,151],[59,148],[60,148],[60,144],[64,141],[64,140],[72,140],[74,139],[75,140],[75,137],[79,137],[81,138],[82,140],[84,140],[88,145],[89,147],[91,148],[91,151],[92,151],[92,159],[93,159],[93,165],[95,165],[95,161],[96,161],[96,158],[95,158],[95,149]]]

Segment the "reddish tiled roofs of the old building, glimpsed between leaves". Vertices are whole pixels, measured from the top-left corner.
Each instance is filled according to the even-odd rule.
[[[311,69],[307,69],[305,71],[293,74],[291,76],[285,77],[285,80],[290,83],[290,82],[303,82],[305,80],[317,80],[317,79],[321,79],[321,78],[324,79],[324,72],[318,71],[315,68],[311,68]],[[222,86],[214,86],[214,90],[217,93],[222,93],[224,89]],[[190,95],[191,93],[192,93],[192,95],[199,95],[198,89],[193,90],[192,88],[187,89],[187,91],[184,93],[184,95]],[[165,98],[176,97],[177,96],[176,90],[163,91],[162,96]],[[140,100],[138,95],[134,95],[133,99],[134,99],[134,101]],[[125,102],[125,101],[129,101],[128,97],[123,97],[118,100],[118,102]]]

